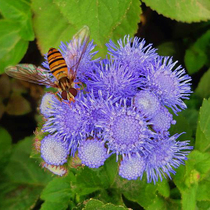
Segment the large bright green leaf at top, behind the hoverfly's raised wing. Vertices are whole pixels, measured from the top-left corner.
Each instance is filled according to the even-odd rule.
[[[71,40],[84,25],[90,28],[90,39],[100,50],[98,56],[105,57],[105,43],[117,40],[125,34],[133,35],[138,28],[141,14],[138,0],[35,0],[34,29],[42,53],[60,42]],[[59,20],[55,24],[55,19]],[[47,21],[46,21],[47,20]]]

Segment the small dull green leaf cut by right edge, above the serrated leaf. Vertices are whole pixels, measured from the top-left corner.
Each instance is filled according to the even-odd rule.
[[[203,74],[198,84],[198,87],[195,90],[195,93],[201,98],[209,98],[210,97],[210,69]]]

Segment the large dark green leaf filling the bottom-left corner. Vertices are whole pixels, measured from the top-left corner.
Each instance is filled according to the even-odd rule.
[[[0,176],[0,209],[32,208],[51,177],[30,159],[32,138],[15,145],[8,165]]]

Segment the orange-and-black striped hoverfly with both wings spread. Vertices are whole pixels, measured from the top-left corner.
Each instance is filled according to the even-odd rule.
[[[60,93],[61,100],[75,101],[77,89],[74,80],[77,76],[77,70],[86,51],[89,41],[89,28],[84,26],[79,30],[68,44],[68,51],[65,55],[55,48],[50,48],[47,54],[49,70],[42,67],[36,67],[32,64],[18,64],[5,69],[6,74],[16,79],[27,82],[46,85],[57,88],[56,94]],[[68,60],[69,68],[66,61]],[[79,89],[79,88],[78,88]]]

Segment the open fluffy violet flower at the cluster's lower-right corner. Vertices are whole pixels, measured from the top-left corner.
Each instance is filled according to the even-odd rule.
[[[158,179],[162,181],[162,177],[171,179],[171,175],[175,174],[174,168],[184,165],[187,160],[187,154],[193,147],[189,146],[189,141],[176,141],[181,134],[175,134],[171,137],[158,136],[154,139],[154,148],[147,157],[146,174],[147,181],[156,183]]]

